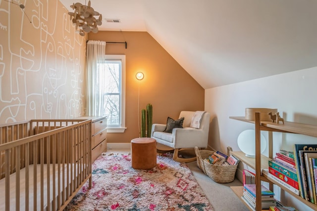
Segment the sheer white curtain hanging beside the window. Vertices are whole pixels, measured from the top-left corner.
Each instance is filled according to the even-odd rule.
[[[104,104],[104,80],[101,79],[99,66],[104,67],[106,42],[87,42],[86,71],[86,115],[102,116]],[[99,65],[98,65],[99,64]]]

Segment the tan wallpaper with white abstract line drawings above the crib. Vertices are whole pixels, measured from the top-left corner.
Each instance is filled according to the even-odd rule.
[[[59,0],[10,1],[0,0],[0,123],[82,116],[87,38]]]

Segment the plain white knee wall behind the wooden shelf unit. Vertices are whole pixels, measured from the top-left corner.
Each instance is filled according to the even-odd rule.
[[[254,129],[254,125],[229,117],[244,116],[245,108],[251,107],[276,108],[285,121],[317,125],[317,67],[206,89],[205,110],[211,113],[209,146],[224,152],[231,146],[238,151],[238,135],[245,129]],[[262,134],[267,138],[267,132]],[[316,143],[317,138],[274,132],[273,155],[279,149],[292,151],[298,142]],[[263,154],[267,155],[267,150]],[[248,167],[239,165],[240,179],[243,168]],[[279,188],[274,192],[279,192]],[[288,206],[303,210],[303,205],[287,197],[287,193],[282,191],[280,197]]]

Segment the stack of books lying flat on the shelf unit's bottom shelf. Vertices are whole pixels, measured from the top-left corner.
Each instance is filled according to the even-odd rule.
[[[262,209],[276,206],[274,193],[262,185]],[[241,197],[246,204],[252,209],[256,209],[256,185],[245,184],[243,186],[243,196]]]

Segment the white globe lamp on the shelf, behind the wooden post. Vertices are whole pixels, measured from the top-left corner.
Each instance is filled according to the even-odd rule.
[[[238,146],[246,157],[254,158],[256,155],[256,131],[254,129],[247,129],[242,131],[238,136]],[[261,134],[261,153],[266,149],[266,139]]]

